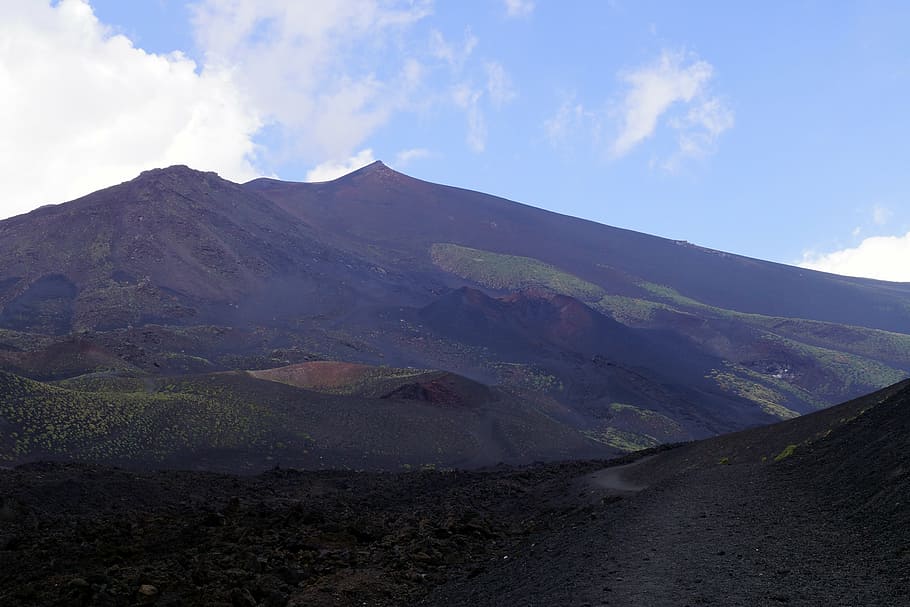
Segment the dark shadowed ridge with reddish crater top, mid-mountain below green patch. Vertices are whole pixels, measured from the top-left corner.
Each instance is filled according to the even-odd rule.
[[[626,327],[574,298],[527,291],[502,299],[464,288],[420,312],[433,330],[495,353],[534,362],[565,378],[559,397],[598,417],[633,402],[669,415],[685,432],[675,440],[710,436],[771,415],[725,394],[711,380],[721,361],[667,331]]]

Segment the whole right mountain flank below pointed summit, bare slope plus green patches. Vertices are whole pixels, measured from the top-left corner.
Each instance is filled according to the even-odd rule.
[[[710,251],[422,182],[381,163],[333,182],[245,187],[387,268],[501,295],[543,288],[629,326],[682,336],[719,361],[707,374],[723,391],[778,418],[910,372],[906,284]]]

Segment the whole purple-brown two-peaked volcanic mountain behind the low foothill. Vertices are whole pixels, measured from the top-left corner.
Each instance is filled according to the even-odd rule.
[[[85,380],[98,402],[122,395],[125,379],[128,392],[156,392],[167,378],[211,377],[240,401],[308,410],[323,406],[318,391],[236,373],[315,361],[496,386],[519,416],[534,412],[523,436],[572,436],[571,448],[551,440],[522,457],[611,453],[791,418],[903,379],[910,285],[711,251],[380,162],[316,184],[156,169],[0,222],[0,369],[16,377],[51,390]],[[453,385],[480,393],[464,382]],[[432,402],[437,387],[401,394],[456,423],[457,410]],[[203,423],[182,411],[162,406],[160,423]],[[514,444],[497,446],[484,419],[478,453],[510,459]],[[283,426],[263,431],[284,443]],[[386,458],[394,432],[357,428],[353,443],[379,441],[375,461],[358,452],[363,465],[470,459],[457,441],[432,461],[413,444]]]

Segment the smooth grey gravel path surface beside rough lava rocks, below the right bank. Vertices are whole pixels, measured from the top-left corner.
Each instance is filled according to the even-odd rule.
[[[788,472],[717,466],[608,497],[427,604],[910,605],[908,531],[858,525]]]

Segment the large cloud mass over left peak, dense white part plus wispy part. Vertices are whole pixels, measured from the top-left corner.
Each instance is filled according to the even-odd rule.
[[[372,159],[368,139],[401,113],[456,112],[482,152],[485,112],[516,96],[470,29],[451,44],[422,27],[428,0],[198,0],[195,60],[137,48],[89,0],[8,4],[0,218],[178,163],[235,181],[301,165],[330,178]]]

